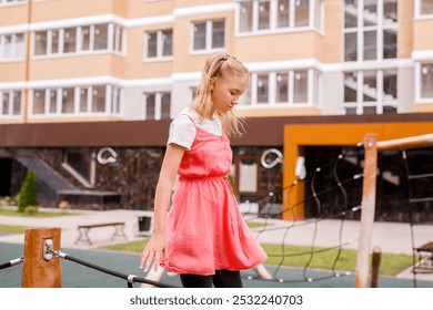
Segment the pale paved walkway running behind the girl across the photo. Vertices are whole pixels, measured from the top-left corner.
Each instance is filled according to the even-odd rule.
[[[41,209],[43,210],[43,209]],[[56,211],[49,209],[50,211]],[[138,234],[138,217],[143,216],[140,210],[108,210],[89,211],[71,210],[73,215],[61,217],[34,218],[34,217],[12,217],[0,216],[0,224],[21,225],[26,227],[60,227],[61,248],[69,249],[98,249],[105,245],[122,244],[124,239],[111,240],[114,227],[101,227],[90,230],[89,237],[92,245],[78,242],[78,225],[99,224],[108,221],[124,221],[124,232],[128,241],[142,240],[143,236]],[[246,217],[246,220],[248,217]],[[315,224],[290,223],[281,220],[254,219],[266,224],[265,227],[254,228],[259,241],[281,245],[283,241],[290,245],[315,247],[333,247],[344,244],[344,248],[358,248],[358,237],[360,235],[360,223],[356,220],[322,220]],[[266,228],[266,229],[264,229]],[[433,226],[416,227],[415,244],[422,245],[433,238]],[[340,232],[341,231],[341,232]],[[313,238],[315,236],[315,238]],[[23,235],[0,235],[0,244],[23,245]],[[372,247],[380,247],[382,252],[412,255],[411,229],[409,224],[397,223],[375,223],[372,234]],[[412,279],[413,275],[406,270],[397,278]],[[433,273],[417,275],[419,280],[433,281]]]

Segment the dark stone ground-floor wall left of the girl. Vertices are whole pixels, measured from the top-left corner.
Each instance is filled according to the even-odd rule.
[[[26,177],[27,168],[14,158],[20,156],[37,157],[44,161],[63,178],[83,190],[82,199],[77,196],[71,198],[72,208],[88,209],[152,209],[153,195],[162,162],[163,148],[115,148],[118,161],[114,164],[101,165],[95,162],[94,188],[84,188],[63,167],[63,148],[3,148],[0,157],[11,161],[11,182],[9,196],[18,194]],[[37,175],[38,178],[38,175]],[[52,190],[51,190],[52,192]],[[71,195],[53,195],[43,182],[38,182],[38,199],[46,207],[57,207],[60,199],[72,197]],[[93,192],[93,202],[89,199]],[[119,199],[113,194],[119,194]],[[115,202],[117,205],[113,205]],[[108,206],[103,206],[103,204]],[[95,206],[100,205],[100,206]]]

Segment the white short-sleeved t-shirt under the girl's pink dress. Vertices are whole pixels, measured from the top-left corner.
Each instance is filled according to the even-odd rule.
[[[191,122],[191,118],[194,123]],[[220,120],[213,117],[213,120],[201,118],[200,115],[189,108],[183,108],[178,116],[170,124],[169,141],[167,144],[178,144],[185,147],[187,149],[191,148],[192,143],[195,138],[197,127],[207,131],[214,135],[222,135],[222,126]]]

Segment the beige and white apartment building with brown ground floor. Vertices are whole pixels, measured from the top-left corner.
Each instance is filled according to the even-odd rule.
[[[124,207],[148,208],[168,122],[191,102],[205,58],[225,51],[251,72],[239,110],[268,135],[234,143],[236,184],[256,199],[269,189],[260,154],[285,147],[284,124],[367,124],[361,135],[386,122],[394,135],[382,138],[432,132],[431,29],[433,0],[0,0],[2,169],[42,158],[74,184],[63,192],[122,193]],[[285,147],[275,188],[292,182],[302,145],[321,144]],[[113,146],[122,164],[100,164]],[[119,165],[148,172],[120,184]],[[7,175],[1,194],[12,195],[19,182]]]

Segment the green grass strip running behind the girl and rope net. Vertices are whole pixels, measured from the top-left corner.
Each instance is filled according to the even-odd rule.
[[[140,241],[107,246],[107,247],[102,247],[101,249],[140,254],[145,247],[145,245],[148,244],[148,241],[149,241],[148,239],[143,239]],[[281,246],[262,244],[262,247],[269,256],[264,265],[273,265],[273,266],[280,265],[281,257],[275,257],[273,255],[282,254]],[[311,250],[310,247],[285,246],[284,252],[286,257],[284,258],[282,265],[285,267],[304,268],[311,258],[310,250]],[[338,249],[315,248],[315,252],[309,265],[309,268],[332,270],[334,260],[336,259],[338,255],[339,255]],[[411,255],[382,254],[381,275],[396,276],[411,266],[412,266]],[[355,267],[356,267],[356,250],[342,249],[340,252],[339,260],[335,264],[334,270],[355,271]]]

